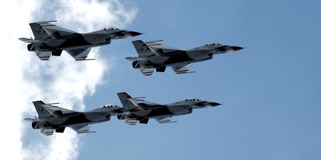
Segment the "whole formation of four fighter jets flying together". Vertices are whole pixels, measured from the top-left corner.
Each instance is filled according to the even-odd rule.
[[[19,38],[29,43],[29,51],[36,52],[41,60],[49,60],[51,55],[60,56],[65,50],[75,60],[92,60],[87,58],[90,49],[94,46],[110,44],[111,39],[133,37],[142,33],[136,31],[122,30],[118,28],[104,28],[101,30],[79,33],[50,22],[42,21],[30,23],[35,38]],[[212,59],[214,54],[221,54],[230,51],[243,49],[240,46],[224,45],[220,43],[208,43],[191,49],[178,49],[166,46],[157,41],[143,42],[142,40],[132,41],[138,57],[126,57],[132,61],[133,68],[139,68],[144,75],[151,75],[156,72],[164,72],[169,66],[177,74],[189,73],[189,68],[194,62]],[[117,93],[121,106],[114,104],[103,105],[88,111],[75,111],[55,104],[44,103],[41,100],[34,101],[38,117],[24,118],[32,122],[34,129],[40,129],[46,135],[52,135],[54,131],[64,132],[70,127],[78,133],[95,132],[90,131],[93,123],[110,120],[111,116],[125,120],[127,124],[147,124],[150,118],[159,123],[176,122],[171,121],[173,116],[192,113],[195,108],[218,106],[220,103],[200,100],[198,98],[187,98],[169,104],[158,104],[145,101],[144,97],[131,97],[126,92]]]

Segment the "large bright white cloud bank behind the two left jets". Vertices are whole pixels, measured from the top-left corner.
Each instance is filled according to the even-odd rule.
[[[99,56],[99,47],[89,54],[92,61],[75,61],[66,52],[41,61],[29,52],[19,37],[30,36],[29,22],[57,19],[59,26],[79,32],[93,31],[108,26],[124,27],[130,23],[137,9],[125,8],[117,0],[73,0],[39,2],[31,0],[0,2],[3,44],[0,58],[2,121],[0,131],[2,159],[74,159],[78,155],[78,135],[71,129],[63,134],[45,136],[32,130],[36,138],[23,144],[25,130],[31,124],[23,122],[23,112],[36,114],[34,100],[60,102],[62,107],[84,109],[83,98],[92,95],[98,85],[106,82],[108,61]],[[50,19],[49,19],[50,18]],[[27,125],[27,126],[26,126]],[[47,156],[44,156],[47,155]]]

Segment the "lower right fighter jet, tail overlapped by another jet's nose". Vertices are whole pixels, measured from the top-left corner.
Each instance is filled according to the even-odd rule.
[[[173,116],[192,113],[193,109],[206,108],[221,105],[217,102],[200,100],[198,98],[186,98],[170,104],[158,104],[142,100],[144,97],[131,97],[126,92],[117,93],[124,108],[138,109],[130,114],[117,115],[118,119],[126,120],[129,125],[139,123],[147,124],[150,118],[159,123],[176,122],[171,121]]]

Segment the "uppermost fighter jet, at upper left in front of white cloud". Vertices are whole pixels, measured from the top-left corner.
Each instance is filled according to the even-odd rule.
[[[86,59],[91,47],[110,44],[111,39],[142,34],[113,27],[79,33],[49,23],[54,21],[57,20],[30,23],[35,39],[19,38],[23,42],[30,43],[27,46],[28,50],[35,51],[41,60],[49,60],[50,55],[60,56],[62,50],[76,60],[92,60]]]

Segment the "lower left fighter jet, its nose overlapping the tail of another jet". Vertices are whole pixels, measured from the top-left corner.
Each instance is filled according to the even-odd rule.
[[[89,133],[93,123],[99,123],[110,120],[112,115],[131,114],[139,111],[136,108],[123,108],[114,104],[107,104],[96,109],[80,112],[70,110],[43,101],[34,101],[38,112],[38,118],[24,118],[32,121],[34,129],[40,129],[45,135],[52,135],[53,132],[64,132],[66,127],[70,127],[77,133]]]

